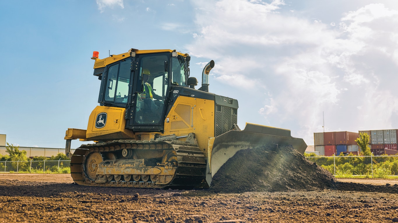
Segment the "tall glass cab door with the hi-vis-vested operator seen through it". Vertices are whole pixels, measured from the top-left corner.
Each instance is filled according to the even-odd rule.
[[[168,61],[167,54],[149,54],[140,57],[135,124],[163,122],[164,99],[168,87],[165,61]]]

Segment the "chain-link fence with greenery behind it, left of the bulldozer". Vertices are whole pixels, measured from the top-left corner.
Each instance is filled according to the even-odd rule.
[[[70,173],[70,160],[1,161],[0,172]]]

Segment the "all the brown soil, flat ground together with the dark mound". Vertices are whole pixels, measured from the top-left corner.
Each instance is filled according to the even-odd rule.
[[[398,222],[397,180],[350,180],[339,181],[289,148],[240,151],[207,190],[79,186],[66,174],[2,174],[0,222]]]

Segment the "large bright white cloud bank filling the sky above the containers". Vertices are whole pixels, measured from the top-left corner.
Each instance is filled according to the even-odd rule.
[[[323,111],[327,131],[398,125],[397,10],[370,4],[327,25],[279,13],[282,1],[196,6],[189,54],[217,60],[212,73],[219,86],[251,89],[249,98],[272,92],[260,106],[241,98],[246,118],[255,108],[264,122],[291,128],[308,144],[322,131]]]

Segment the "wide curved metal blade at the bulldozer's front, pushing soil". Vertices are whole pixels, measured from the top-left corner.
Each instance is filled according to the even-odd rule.
[[[209,151],[211,156],[207,162],[207,183],[210,186],[213,176],[237,151],[269,145],[292,145],[301,154],[307,148],[303,139],[291,136],[290,130],[246,123],[242,131],[231,130],[214,138],[213,147]]]

